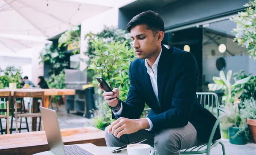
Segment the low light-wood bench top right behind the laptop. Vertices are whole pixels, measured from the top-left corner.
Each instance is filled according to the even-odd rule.
[[[64,144],[81,144],[84,141],[105,141],[105,132],[94,127],[61,129]],[[30,146],[48,145],[45,131],[0,135],[0,151]],[[104,146],[104,144],[103,144]]]

